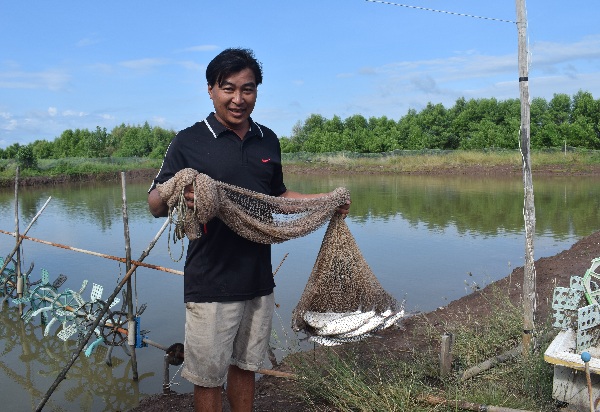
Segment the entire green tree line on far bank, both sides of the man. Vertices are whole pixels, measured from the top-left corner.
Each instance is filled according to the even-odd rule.
[[[495,98],[466,100],[454,106],[428,103],[398,121],[386,116],[357,114],[342,120],[318,114],[299,121],[289,137],[281,137],[284,153],[326,153],[349,151],[382,153],[393,150],[480,150],[517,149],[519,145],[520,101]],[[162,158],[175,131],[143,125],[121,124],[110,132],[65,130],[53,141],[36,140],[27,145],[14,143],[0,149],[0,159],[17,159],[23,166],[35,166],[37,159],[69,157]],[[550,101],[531,101],[531,148],[578,147],[600,149],[600,99],[579,91],[572,97],[555,94]]]

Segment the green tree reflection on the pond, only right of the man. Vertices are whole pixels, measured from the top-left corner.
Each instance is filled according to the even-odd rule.
[[[351,216],[359,222],[400,215],[411,225],[424,223],[431,230],[452,226],[459,233],[496,235],[523,228],[523,183],[518,176],[352,176],[318,184],[288,178],[287,184],[311,193],[348,187]],[[586,236],[598,227],[600,187],[595,178],[539,178],[534,191],[538,233]]]

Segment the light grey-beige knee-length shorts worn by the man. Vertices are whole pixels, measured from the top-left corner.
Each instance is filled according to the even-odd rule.
[[[187,302],[185,362],[181,376],[194,385],[221,386],[229,365],[257,371],[265,360],[273,293],[241,302]]]

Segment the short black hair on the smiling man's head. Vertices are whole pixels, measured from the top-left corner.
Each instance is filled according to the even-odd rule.
[[[223,80],[244,69],[254,72],[256,85],[262,83],[262,66],[250,49],[229,48],[223,50],[206,66],[206,82],[209,86],[222,84]]]

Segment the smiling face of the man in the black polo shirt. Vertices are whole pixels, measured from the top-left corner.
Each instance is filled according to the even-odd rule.
[[[225,78],[221,85],[208,86],[215,115],[224,126],[240,130],[248,125],[248,118],[256,104],[257,88],[254,73],[244,69]]]

